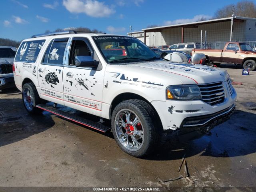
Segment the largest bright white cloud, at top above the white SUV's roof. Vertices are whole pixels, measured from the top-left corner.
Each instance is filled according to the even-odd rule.
[[[91,17],[107,17],[116,12],[97,0],[63,0],[63,5],[70,13],[85,13]]]

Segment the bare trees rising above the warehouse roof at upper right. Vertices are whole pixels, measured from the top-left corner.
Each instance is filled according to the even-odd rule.
[[[225,18],[232,16],[232,7],[234,7],[234,15],[242,17],[256,18],[256,4],[253,1],[244,0],[237,4],[230,4],[218,9],[214,18]]]

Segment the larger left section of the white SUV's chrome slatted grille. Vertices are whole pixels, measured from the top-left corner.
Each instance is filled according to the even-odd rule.
[[[202,101],[210,105],[216,105],[224,101],[225,92],[222,82],[201,84],[198,87],[201,91]]]

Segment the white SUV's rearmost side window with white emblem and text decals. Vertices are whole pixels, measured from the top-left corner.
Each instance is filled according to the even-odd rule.
[[[36,62],[38,54],[44,45],[45,40],[24,41],[17,51],[15,61]]]

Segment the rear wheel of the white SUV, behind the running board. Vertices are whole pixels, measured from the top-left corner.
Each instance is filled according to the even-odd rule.
[[[28,96],[26,96],[26,92],[28,92],[28,91],[30,94],[30,102],[28,100]],[[26,103],[26,101],[27,101],[27,103]],[[36,90],[36,87],[33,83],[26,83],[22,87],[22,102],[23,102],[24,107],[26,108],[28,113],[42,114],[42,110],[40,108],[36,107],[37,104],[42,103],[42,100],[40,99],[38,92]],[[28,106],[28,103],[30,103],[29,106]]]

